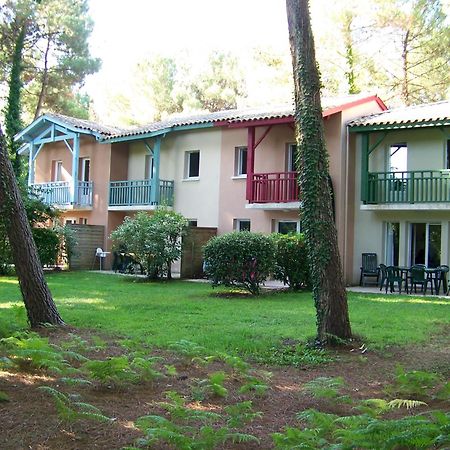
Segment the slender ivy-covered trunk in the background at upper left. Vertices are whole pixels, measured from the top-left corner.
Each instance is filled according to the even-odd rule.
[[[9,157],[13,165],[14,173],[17,179],[20,178],[22,167],[17,151],[19,145],[14,141],[14,136],[23,128],[20,119],[20,92],[22,89],[22,51],[25,42],[27,22],[24,21],[19,27],[20,31],[14,43],[14,54],[11,65],[11,74],[9,77],[9,92],[5,108],[5,131]]]

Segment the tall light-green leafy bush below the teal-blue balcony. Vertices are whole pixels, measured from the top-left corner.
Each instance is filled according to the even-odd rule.
[[[149,278],[171,278],[170,267],[181,256],[181,237],[187,227],[188,221],[181,214],[158,208],[152,215],[139,212],[125,217],[111,239],[114,247],[134,254]]]

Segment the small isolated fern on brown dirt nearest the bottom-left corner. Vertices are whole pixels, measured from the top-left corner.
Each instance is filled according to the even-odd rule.
[[[73,423],[78,420],[111,422],[113,420],[110,417],[103,415],[95,406],[89,403],[75,402],[66,394],[49,386],[41,386],[38,389],[52,396],[56,405],[58,417],[63,422]]]

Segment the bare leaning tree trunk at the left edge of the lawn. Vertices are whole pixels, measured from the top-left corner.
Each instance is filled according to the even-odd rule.
[[[13,255],[20,290],[31,327],[46,323],[64,325],[44,278],[36,244],[6,152],[0,129],[0,214],[2,215]]]

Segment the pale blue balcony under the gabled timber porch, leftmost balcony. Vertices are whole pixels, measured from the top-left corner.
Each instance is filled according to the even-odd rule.
[[[71,183],[68,181],[35,183],[31,185],[31,190],[47,205],[60,209],[92,207],[92,181],[78,181],[75,187],[75,201],[72,200]]]

